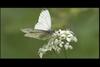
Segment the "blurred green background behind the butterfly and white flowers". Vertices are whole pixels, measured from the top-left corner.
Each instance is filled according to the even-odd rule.
[[[1,8],[1,58],[39,58],[47,41],[24,37],[20,29],[37,23],[42,8]],[[73,50],[47,52],[43,58],[99,58],[99,8],[48,8],[52,29],[71,29]]]

